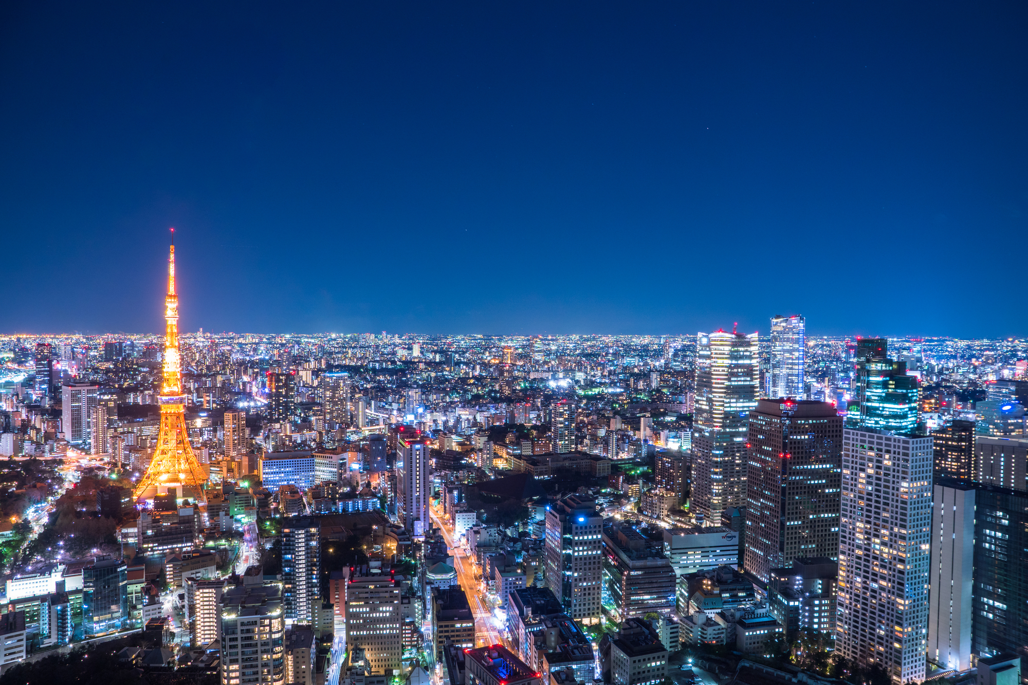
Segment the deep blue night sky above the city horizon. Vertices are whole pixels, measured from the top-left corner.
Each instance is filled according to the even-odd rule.
[[[2,331],[1028,334],[1022,2],[7,2]]]

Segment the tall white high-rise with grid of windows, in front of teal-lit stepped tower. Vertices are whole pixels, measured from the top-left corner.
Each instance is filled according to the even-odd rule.
[[[844,429],[836,648],[893,683],[924,680],[930,436]]]

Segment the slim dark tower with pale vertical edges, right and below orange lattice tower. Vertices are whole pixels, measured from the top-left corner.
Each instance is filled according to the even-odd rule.
[[[321,597],[321,522],[313,516],[282,520],[282,600],[286,618],[309,623],[311,602]]]

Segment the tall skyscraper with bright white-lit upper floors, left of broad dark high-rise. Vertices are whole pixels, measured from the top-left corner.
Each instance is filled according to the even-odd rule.
[[[746,504],[746,432],[757,407],[757,333],[699,333],[693,506],[706,516]]]

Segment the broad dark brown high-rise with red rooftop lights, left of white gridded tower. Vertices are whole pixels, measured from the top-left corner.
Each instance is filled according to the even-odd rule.
[[[749,412],[745,568],[838,558],[843,420],[831,402],[762,399]]]

